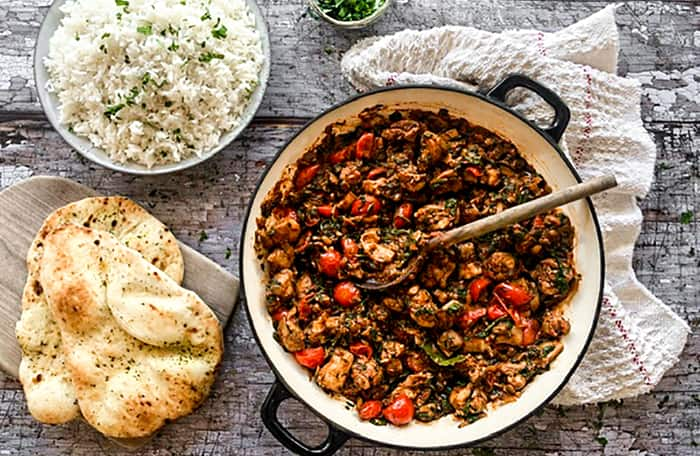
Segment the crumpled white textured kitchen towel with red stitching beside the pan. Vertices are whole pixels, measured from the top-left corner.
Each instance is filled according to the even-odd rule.
[[[615,6],[609,6],[555,33],[405,30],[362,40],[342,61],[343,74],[360,91],[410,83],[486,90],[510,73],[526,74],[569,105],[561,145],[581,176],[617,176],[617,188],[594,198],[605,243],[605,295],[588,353],[555,399],[564,405],[650,391],[678,361],[690,331],[632,269],[642,225],[636,198],[649,191],[656,148],[642,125],[640,83],[615,74],[618,49]],[[536,96],[510,98],[530,119],[547,120],[550,109]]]

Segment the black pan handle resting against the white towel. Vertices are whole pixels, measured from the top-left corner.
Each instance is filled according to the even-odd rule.
[[[517,73],[506,76],[504,80],[496,84],[496,87],[491,89],[488,96],[501,103],[505,103],[508,92],[516,87],[532,90],[554,109],[554,122],[550,127],[542,128],[542,131],[554,139],[554,142],[558,143],[564,134],[564,130],[566,130],[566,127],[569,125],[569,119],[571,118],[569,107],[559,98],[559,95],[552,92],[547,87],[534,79]]]

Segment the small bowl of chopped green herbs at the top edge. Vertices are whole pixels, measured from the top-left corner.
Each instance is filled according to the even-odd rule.
[[[313,12],[326,22],[347,29],[374,23],[389,7],[390,0],[309,0]]]

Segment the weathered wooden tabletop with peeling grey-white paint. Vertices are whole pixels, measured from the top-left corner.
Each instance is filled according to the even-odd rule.
[[[465,24],[499,31],[556,30],[607,1],[397,0],[373,28],[340,32],[311,17],[302,0],[260,0],[272,40],[272,78],[258,117],[225,151],[185,172],[135,177],[87,162],[45,121],[32,78],[32,48],[49,0],[0,2],[0,188],[30,175],[73,178],[148,207],[183,241],[237,273],[241,219],[276,150],[308,118],[353,89],[339,74],[343,51],[358,38],[406,27]],[[643,116],[659,152],[656,182],[641,202],[645,221],[634,266],[639,278],[694,329],[680,362],[652,394],[624,403],[544,412],[481,448],[450,454],[659,454],[700,449],[700,6],[696,0],[630,2],[618,10],[620,73],[644,84]],[[232,253],[227,253],[229,252]],[[1,272],[0,272],[1,273]],[[212,397],[167,426],[147,454],[285,454],[263,427],[260,405],[273,380],[239,309],[227,327],[227,354]],[[283,407],[297,433],[325,431],[301,407]],[[110,454],[123,450],[87,425],[35,422],[20,384],[0,374],[0,455]],[[399,454],[351,440],[345,454]],[[125,453],[126,454],[126,453]]]

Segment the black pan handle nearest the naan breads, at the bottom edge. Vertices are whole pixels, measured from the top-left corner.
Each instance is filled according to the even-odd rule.
[[[289,451],[302,456],[326,456],[332,455],[350,438],[345,433],[335,429],[333,426],[328,426],[328,437],[326,440],[315,448],[311,448],[301,440],[292,435],[277,419],[277,410],[282,402],[287,399],[293,399],[292,394],[278,380],[270,388],[267,393],[265,402],[263,403],[261,414],[265,427],[275,436],[275,438],[284,445]]]

